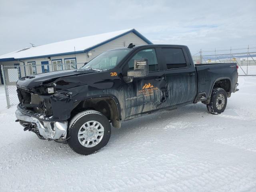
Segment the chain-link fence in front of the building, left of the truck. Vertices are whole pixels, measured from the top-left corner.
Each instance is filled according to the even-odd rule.
[[[4,83],[4,90],[6,94],[7,108],[19,103],[16,82],[19,78],[39,73],[47,73],[52,71],[72,70],[84,66],[84,63],[71,64],[45,64],[45,65],[1,65],[2,81]]]

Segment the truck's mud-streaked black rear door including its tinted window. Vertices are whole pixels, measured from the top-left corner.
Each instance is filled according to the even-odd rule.
[[[161,62],[166,73],[168,106],[191,102],[196,96],[196,71],[182,46],[163,46]]]

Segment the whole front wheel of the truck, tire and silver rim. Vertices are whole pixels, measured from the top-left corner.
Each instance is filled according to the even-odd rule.
[[[72,118],[68,145],[78,154],[89,155],[104,147],[111,135],[109,120],[102,113],[87,110]]]

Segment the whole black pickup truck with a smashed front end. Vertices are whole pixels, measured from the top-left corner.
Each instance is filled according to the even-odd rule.
[[[142,45],[109,50],[78,70],[22,77],[17,122],[40,139],[92,154],[111,126],[142,115],[202,102],[224,111],[236,92],[236,63],[194,65],[187,46]]]

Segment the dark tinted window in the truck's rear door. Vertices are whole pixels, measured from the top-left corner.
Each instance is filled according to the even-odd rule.
[[[181,48],[162,48],[167,69],[186,67],[186,60]]]

